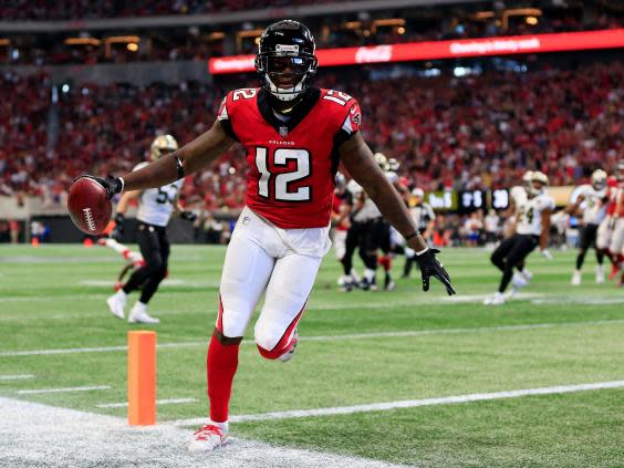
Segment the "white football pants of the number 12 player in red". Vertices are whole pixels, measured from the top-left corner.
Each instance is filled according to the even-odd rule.
[[[256,343],[272,351],[290,341],[312,291],[329,229],[279,229],[253,214],[241,212],[221,275],[217,327],[227,337],[243,336],[262,292],[264,305],[256,322]],[[304,250],[305,253],[301,253]],[[284,336],[289,333],[289,336]]]

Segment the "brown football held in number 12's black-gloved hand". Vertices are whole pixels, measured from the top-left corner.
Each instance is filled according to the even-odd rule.
[[[97,236],[106,229],[113,205],[104,187],[89,177],[80,177],[70,187],[67,210],[81,231]]]

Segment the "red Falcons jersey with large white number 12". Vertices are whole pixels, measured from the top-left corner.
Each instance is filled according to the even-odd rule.
[[[249,208],[284,229],[330,223],[337,147],[362,118],[353,97],[311,89],[282,121],[266,90],[236,90],[223,98],[218,118],[247,152]]]

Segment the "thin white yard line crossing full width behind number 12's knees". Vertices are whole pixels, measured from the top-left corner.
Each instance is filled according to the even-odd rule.
[[[445,335],[445,334],[461,334],[461,333],[487,333],[487,332],[514,332],[524,330],[541,330],[568,326],[584,326],[584,325],[613,325],[622,324],[624,319],[613,320],[593,320],[585,322],[552,322],[552,323],[530,323],[526,325],[498,325],[498,326],[471,326],[464,329],[425,329],[413,330],[405,332],[372,332],[372,333],[353,333],[344,335],[320,335],[320,336],[300,336],[299,340],[305,341],[341,341],[341,340],[365,340],[375,337],[412,337],[412,336],[428,336],[428,335]],[[194,347],[207,346],[208,337],[205,341],[189,341],[180,343],[160,343],[157,344],[158,349],[177,349],[177,347]],[[253,340],[245,340],[242,344],[256,345]],[[127,345],[123,346],[96,346],[96,347],[67,347],[58,350],[30,350],[30,351],[2,351],[0,357],[18,357],[18,356],[38,356],[50,354],[74,354],[74,353],[108,353],[115,351],[127,351]]]

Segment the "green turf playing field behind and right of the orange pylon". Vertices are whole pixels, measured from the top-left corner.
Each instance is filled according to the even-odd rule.
[[[206,415],[205,351],[223,253],[174,246],[168,283],[150,303],[158,343],[173,344],[158,350],[158,398],[190,399],[159,406],[159,422]],[[574,253],[553,253],[551,262],[530,257],[532,283],[502,306],[481,304],[500,278],[481,249],[443,252],[453,300],[438,283],[423,293],[416,278],[393,292],[340,292],[330,253],[295,358],[267,362],[252,340],[241,346],[231,415],[624,381],[624,290],[593,282],[591,253],[583,284],[572,288]],[[122,264],[101,247],[0,247],[0,396],[125,416],[98,406],[126,401],[126,332],[144,329],[104,303]],[[23,374],[33,377],[2,379]],[[110,388],[20,393],[84,386]],[[622,467],[624,387],[247,420],[231,431],[417,466]]]

